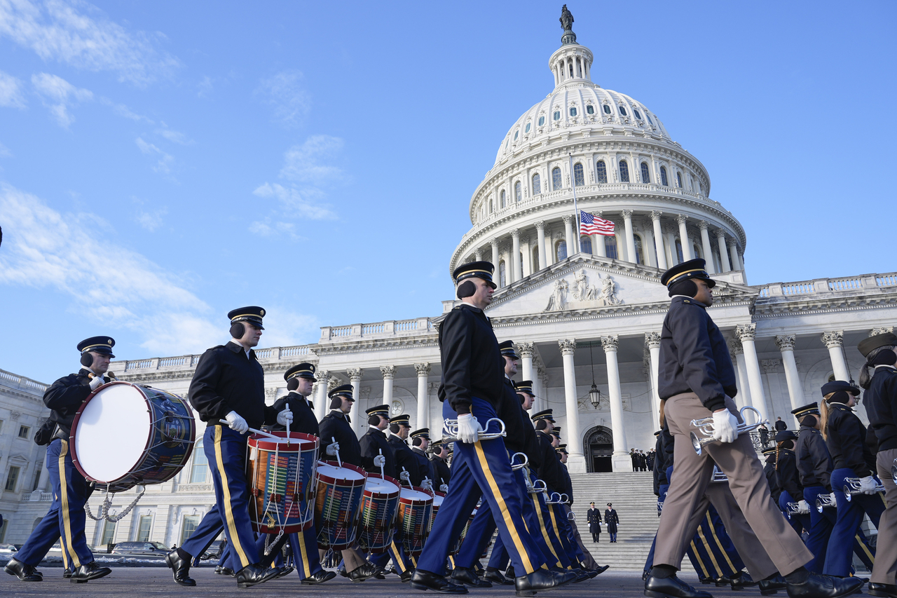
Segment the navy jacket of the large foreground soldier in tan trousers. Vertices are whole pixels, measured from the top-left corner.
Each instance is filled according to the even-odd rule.
[[[710,411],[723,409],[726,395],[736,396],[735,368],[705,305],[675,296],[660,332],[658,393],[666,400],[689,391]]]

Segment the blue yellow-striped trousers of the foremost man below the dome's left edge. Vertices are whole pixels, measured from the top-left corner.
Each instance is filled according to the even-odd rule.
[[[492,405],[479,398],[473,399],[471,412],[483,424],[496,417]],[[442,417],[457,418],[448,401],[442,405]],[[510,469],[508,450],[501,438],[495,438],[478,440],[474,444],[455,444],[451,484],[436,515],[430,538],[417,559],[418,569],[437,575],[445,573],[448,550],[461,534],[480,497],[495,514],[499,535],[518,576],[545,566],[542,553],[523,520],[522,500],[518,482]]]

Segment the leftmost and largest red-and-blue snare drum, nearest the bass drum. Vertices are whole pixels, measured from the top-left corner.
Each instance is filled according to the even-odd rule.
[[[249,523],[256,532],[297,533],[314,523],[309,506],[315,497],[318,436],[271,432],[282,438],[251,435],[246,478],[249,481]]]

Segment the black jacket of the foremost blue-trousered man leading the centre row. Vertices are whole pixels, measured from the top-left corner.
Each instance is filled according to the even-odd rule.
[[[474,397],[488,400],[496,412],[504,384],[504,357],[483,310],[461,303],[440,324],[442,383],[440,401],[458,415],[470,413]],[[482,422],[485,424],[485,422]]]

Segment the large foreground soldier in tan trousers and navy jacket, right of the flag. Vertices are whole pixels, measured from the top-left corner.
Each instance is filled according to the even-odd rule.
[[[863,585],[854,579],[819,576],[804,565],[813,558],[803,541],[772,502],[769,486],[749,435],[739,436],[735,369],[726,339],[710,319],[710,289],[716,285],[703,259],[691,259],[667,270],[661,283],[672,297],[660,335],[658,392],[665,400],[666,422],[674,438],[675,470],[660,517],[654,567],[645,580],[652,598],[710,598],[675,576],[685,546],[697,529],[696,507],[716,463],[726,473],[729,489],[753,534],[777,571],[752,571],[761,576],[761,590],[788,589],[790,598],[840,598]],[[719,442],[692,447],[692,419],[712,418]],[[768,567],[764,567],[768,568]],[[784,579],[779,577],[779,572]]]

